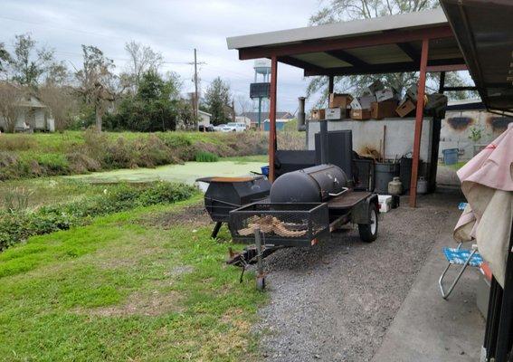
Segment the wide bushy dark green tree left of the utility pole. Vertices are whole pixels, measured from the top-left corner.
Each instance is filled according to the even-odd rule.
[[[179,89],[176,74],[165,81],[157,71],[145,72],[135,96],[127,95],[119,105],[110,127],[140,132],[175,130],[181,111],[176,94]]]

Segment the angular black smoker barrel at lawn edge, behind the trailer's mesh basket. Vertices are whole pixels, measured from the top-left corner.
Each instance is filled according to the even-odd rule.
[[[267,197],[271,189],[264,176],[203,177],[196,181],[209,184],[204,207],[218,223],[228,222],[230,211]]]

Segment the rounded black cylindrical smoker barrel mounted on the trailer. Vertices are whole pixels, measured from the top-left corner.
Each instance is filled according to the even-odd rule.
[[[271,186],[271,203],[320,203],[347,186],[347,176],[335,165],[289,172]]]

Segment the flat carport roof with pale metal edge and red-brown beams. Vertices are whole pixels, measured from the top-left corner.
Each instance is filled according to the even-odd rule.
[[[309,76],[418,71],[424,38],[430,39],[428,66],[464,67],[442,9],[235,36],[226,42],[241,60],[276,56]]]

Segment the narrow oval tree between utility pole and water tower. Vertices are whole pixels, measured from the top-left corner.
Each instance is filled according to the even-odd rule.
[[[230,107],[232,95],[230,85],[217,77],[212,81],[205,93],[205,103],[212,114],[214,125],[222,124],[230,119]]]

